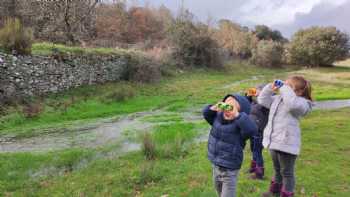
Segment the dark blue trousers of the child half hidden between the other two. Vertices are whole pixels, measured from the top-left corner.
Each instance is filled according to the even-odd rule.
[[[264,147],[262,145],[262,140],[262,132],[250,138],[250,150],[252,151],[253,161],[255,161],[256,165],[259,167],[264,167],[264,158],[262,155]]]

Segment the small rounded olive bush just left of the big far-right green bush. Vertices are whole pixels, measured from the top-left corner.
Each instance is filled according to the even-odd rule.
[[[252,63],[265,67],[279,67],[282,64],[284,48],[281,43],[262,40],[253,51]]]

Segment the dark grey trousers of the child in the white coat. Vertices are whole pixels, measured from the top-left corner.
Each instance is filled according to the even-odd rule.
[[[294,167],[296,155],[270,150],[275,171],[274,181],[282,184],[285,191],[293,192],[295,187]]]

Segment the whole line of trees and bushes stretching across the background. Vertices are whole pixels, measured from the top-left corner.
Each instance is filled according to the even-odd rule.
[[[130,6],[126,0],[2,1],[0,27],[6,30],[6,24],[20,23],[24,26],[17,27],[20,35],[32,34],[21,42],[33,39],[91,47],[156,48],[182,67],[220,67],[223,56],[262,66],[324,66],[349,55],[349,37],[335,27],[299,30],[288,40],[266,25],[250,29],[227,19],[211,25],[196,20],[185,9],[174,15],[165,6]],[[18,22],[10,23],[11,18]],[[11,39],[5,38],[14,35],[11,31],[15,29],[0,30],[3,48],[11,48],[6,44]]]

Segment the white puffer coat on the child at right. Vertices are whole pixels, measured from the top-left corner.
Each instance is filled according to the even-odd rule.
[[[263,145],[299,155],[301,130],[299,119],[312,110],[312,102],[297,96],[290,86],[280,88],[280,94],[273,96],[272,84],[265,86],[258,97],[258,103],[270,109],[269,121],[264,130]]]

